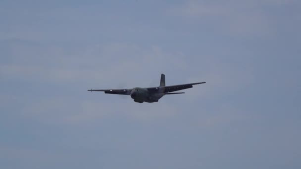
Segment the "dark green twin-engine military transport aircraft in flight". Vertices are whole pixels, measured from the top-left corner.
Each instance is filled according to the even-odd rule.
[[[165,75],[161,74],[160,86],[158,87],[148,87],[141,88],[135,87],[131,89],[90,89],[88,91],[104,91],[106,94],[122,94],[131,95],[135,102],[143,103],[153,103],[158,102],[158,100],[166,94],[182,94],[184,92],[173,92],[178,90],[183,90],[187,88],[192,88],[195,84],[205,84],[206,82],[199,82],[193,84],[178,84],[178,85],[168,85],[165,86]]]

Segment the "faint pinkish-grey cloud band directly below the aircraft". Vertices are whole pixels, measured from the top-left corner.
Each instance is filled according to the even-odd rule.
[[[108,95],[101,97],[103,98],[85,97],[82,100],[61,97],[33,99],[18,114],[23,118],[45,124],[83,125],[98,123],[114,117],[151,122],[173,117],[178,112],[176,106],[169,103],[138,104],[129,96],[123,96],[124,98],[115,96],[114,102],[112,102],[110,98],[104,99],[109,97]]]

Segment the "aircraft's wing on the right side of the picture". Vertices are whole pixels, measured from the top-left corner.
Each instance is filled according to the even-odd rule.
[[[187,88],[192,88],[195,84],[205,84],[206,82],[199,82],[193,84],[178,84],[178,85],[168,85],[168,86],[160,86],[160,87],[150,87],[147,88],[149,91],[160,91],[161,93],[169,93],[173,91],[183,90]]]

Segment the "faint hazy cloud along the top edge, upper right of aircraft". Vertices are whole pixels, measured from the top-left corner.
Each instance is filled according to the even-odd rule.
[[[168,13],[230,35],[270,36],[276,28],[274,16],[265,6],[292,3],[294,0],[189,0],[172,7]]]

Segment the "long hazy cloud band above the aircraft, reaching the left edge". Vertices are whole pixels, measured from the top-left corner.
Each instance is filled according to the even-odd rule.
[[[70,55],[60,47],[24,43],[12,43],[11,58],[14,61],[0,64],[0,74],[5,79],[125,82],[139,76],[143,77],[143,81],[148,79],[145,75],[159,76],[160,73],[187,67],[182,54],[167,53],[156,46],[144,49],[126,43],[96,44],[75,49],[78,53]]]

